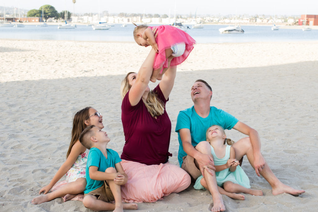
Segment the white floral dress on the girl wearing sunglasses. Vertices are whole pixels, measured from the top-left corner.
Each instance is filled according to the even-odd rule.
[[[66,172],[66,181],[73,182],[76,181],[78,178],[84,177],[86,178],[86,163],[88,157],[89,149],[83,154],[80,154],[73,166]]]

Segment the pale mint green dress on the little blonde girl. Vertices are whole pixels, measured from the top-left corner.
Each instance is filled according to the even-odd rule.
[[[231,146],[227,145],[224,158],[218,158],[215,155],[213,147],[211,146],[211,153],[212,153],[212,156],[213,156],[214,165],[219,166],[219,165],[225,164],[227,162],[227,160],[230,159],[230,150],[231,150]],[[217,184],[220,187],[223,186],[223,184],[226,181],[231,181],[233,183],[237,183],[237,184],[239,184],[241,186],[244,186],[245,188],[251,188],[250,180],[248,179],[248,177],[245,174],[244,170],[240,166],[237,166],[236,170],[234,172],[231,172],[229,170],[229,168],[227,168],[227,169],[224,169],[222,171],[216,172],[215,176],[216,176],[216,179],[217,179]],[[200,177],[198,177],[196,183],[193,186],[195,189],[205,189],[200,183],[200,180],[202,178],[203,178],[202,175]]]

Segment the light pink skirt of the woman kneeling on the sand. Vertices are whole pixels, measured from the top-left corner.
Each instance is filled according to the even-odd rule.
[[[121,186],[123,202],[156,202],[163,196],[178,193],[189,187],[190,175],[169,163],[145,165],[134,161],[121,161],[128,181]]]

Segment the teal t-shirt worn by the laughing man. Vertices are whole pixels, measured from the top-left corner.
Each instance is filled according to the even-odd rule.
[[[212,125],[219,125],[224,129],[230,130],[238,121],[239,120],[231,114],[213,106],[210,106],[210,114],[206,118],[199,116],[194,110],[194,106],[180,111],[176,123],[176,132],[178,133],[179,140],[178,161],[180,167],[182,165],[182,157],[187,155],[183,151],[182,141],[179,133],[180,129],[187,128],[190,130],[191,144],[196,146],[199,142],[206,140],[206,130]]]

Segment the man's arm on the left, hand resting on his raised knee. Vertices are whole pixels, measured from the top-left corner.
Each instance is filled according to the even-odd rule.
[[[206,169],[209,174],[213,175],[210,169],[208,169],[211,168],[212,170],[215,170],[213,158],[210,155],[197,151],[192,146],[190,130],[187,128],[179,129],[179,134],[184,152],[197,160],[202,175],[204,176],[204,169]]]

